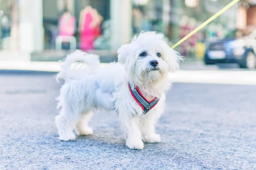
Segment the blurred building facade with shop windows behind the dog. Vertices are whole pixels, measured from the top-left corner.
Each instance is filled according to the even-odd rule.
[[[113,50],[129,43],[140,31],[163,32],[174,44],[218,12],[231,0],[0,0],[1,48],[11,49],[18,17],[16,39],[20,51],[56,49],[58,36],[74,37],[82,50]],[[243,1],[245,2],[245,1]],[[17,8],[15,8],[17,7]],[[254,7],[253,7],[254,8]],[[13,12],[16,9],[16,15]],[[243,7],[244,9],[244,7]],[[246,9],[250,15],[253,9]],[[193,51],[198,42],[225,37],[244,20],[239,4],[203,28],[178,50]],[[239,13],[239,14],[238,14]],[[254,20],[246,19],[247,23]],[[239,22],[241,23],[241,22]],[[247,25],[244,23],[244,25]],[[66,25],[65,25],[66,24]],[[240,24],[240,27],[244,26]],[[235,35],[234,35],[235,36]],[[70,48],[70,39],[61,48]],[[73,40],[73,39],[72,39]]]

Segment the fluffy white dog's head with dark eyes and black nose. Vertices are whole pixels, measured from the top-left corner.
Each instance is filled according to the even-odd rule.
[[[142,32],[122,45],[118,60],[134,82],[159,82],[179,68],[180,55],[164,41],[163,34]]]

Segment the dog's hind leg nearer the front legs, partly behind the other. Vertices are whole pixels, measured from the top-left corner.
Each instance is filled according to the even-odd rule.
[[[90,121],[93,113],[92,112],[84,112],[81,114],[81,118],[76,125],[76,133],[80,136],[83,135],[92,135],[93,129],[88,126],[88,122]]]

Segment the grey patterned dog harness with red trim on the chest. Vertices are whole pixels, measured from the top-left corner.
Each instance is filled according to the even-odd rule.
[[[140,107],[143,110],[144,115],[146,113],[148,113],[148,111],[150,111],[150,109],[154,108],[155,105],[157,105],[159,98],[155,97],[153,100],[148,101],[148,99],[146,99],[143,96],[143,94],[141,93],[141,91],[139,90],[139,88],[137,86],[134,85],[134,88],[131,88],[130,83],[128,83],[128,86],[129,86],[129,90],[131,92],[131,96],[133,96],[134,100],[138,103],[138,105],[140,105]]]

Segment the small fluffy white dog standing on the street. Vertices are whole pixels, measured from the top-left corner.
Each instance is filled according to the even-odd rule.
[[[179,68],[180,55],[164,41],[163,34],[142,32],[118,51],[119,62],[100,67],[99,57],[75,51],[64,59],[57,79],[65,79],[58,97],[60,114],[55,123],[59,139],[75,140],[93,134],[88,122],[95,109],[115,111],[126,146],[143,149],[144,143],[160,142],[155,125],[164,112],[168,73]],[[74,62],[89,67],[73,70]]]

